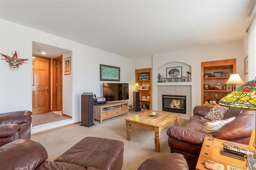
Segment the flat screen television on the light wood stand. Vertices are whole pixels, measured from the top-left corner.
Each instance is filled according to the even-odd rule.
[[[106,101],[129,99],[129,83],[103,83],[103,97]]]

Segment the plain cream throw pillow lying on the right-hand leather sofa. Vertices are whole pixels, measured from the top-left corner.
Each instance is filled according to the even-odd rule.
[[[207,133],[218,132],[220,128],[222,128],[227,123],[234,121],[235,119],[236,117],[230,117],[228,119],[221,120],[221,121],[206,122],[205,125],[200,130],[202,132],[207,132]]]

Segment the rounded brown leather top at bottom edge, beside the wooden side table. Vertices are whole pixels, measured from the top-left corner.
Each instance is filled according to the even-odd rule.
[[[182,154],[170,153],[148,158],[138,170],[188,170],[188,164]]]

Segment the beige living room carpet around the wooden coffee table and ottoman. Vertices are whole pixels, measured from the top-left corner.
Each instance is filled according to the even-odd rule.
[[[129,112],[129,115],[106,119],[102,124],[99,121],[94,121],[95,125],[92,127],[83,127],[76,124],[42,134],[32,134],[31,139],[40,142],[46,148],[48,160],[54,160],[86,136],[121,140],[124,142],[124,164],[122,170],[136,170],[147,158],[170,153],[166,130],[174,125],[174,123],[171,123],[161,131],[160,152],[155,152],[153,130],[132,126],[131,140],[126,140],[126,123],[124,119],[138,113],[140,112]],[[179,125],[185,126],[188,121],[179,119]]]

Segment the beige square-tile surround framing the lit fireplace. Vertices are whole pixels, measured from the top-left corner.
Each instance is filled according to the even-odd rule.
[[[191,85],[158,85],[158,111],[162,111],[162,95],[183,95],[186,96],[186,116],[180,114],[180,118],[190,118],[192,112]]]

